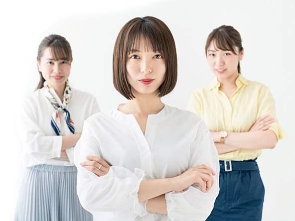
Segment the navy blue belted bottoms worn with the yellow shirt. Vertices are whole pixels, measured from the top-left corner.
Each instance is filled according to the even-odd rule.
[[[207,221],[261,221],[264,185],[256,161],[248,161],[249,168],[247,163],[239,163],[245,161],[231,162],[232,171],[225,171],[224,161],[220,161],[220,192]]]

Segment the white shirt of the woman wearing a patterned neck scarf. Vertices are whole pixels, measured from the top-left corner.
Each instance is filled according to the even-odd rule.
[[[44,94],[44,88],[25,95],[20,103],[17,117],[21,163],[25,167],[38,164],[74,165],[74,147],[66,150],[69,159],[60,158],[62,135],[71,132],[61,116],[61,135],[57,136],[51,126],[51,115],[55,110]],[[99,112],[95,97],[89,93],[71,88],[72,97],[66,109],[74,121],[75,133],[81,133],[83,122],[89,116]],[[62,104],[54,89],[50,89],[59,105]]]

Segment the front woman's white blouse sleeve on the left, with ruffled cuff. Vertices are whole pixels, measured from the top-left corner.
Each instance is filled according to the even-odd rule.
[[[105,176],[97,177],[83,168],[80,163],[86,156],[101,157],[99,141],[95,138],[90,124],[84,122],[81,138],[74,150],[74,161],[78,169],[77,194],[81,205],[91,213],[130,211],[134,217],[147,214],[145,204],[139,203],[138,191],[144,178],[144,171],[111,166]],[[110,147],[112,148],[112,147]]]

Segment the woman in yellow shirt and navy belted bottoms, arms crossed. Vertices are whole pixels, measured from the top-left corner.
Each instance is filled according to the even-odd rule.
[[[264,185],[256,159],[287,135],[270,90],[241,75],[240,33],[226,25],[214,29],[205,52],[216,77],[192,93],[188,110],[204,119],[219,153],[220,193],[207,221],[261,221]]]

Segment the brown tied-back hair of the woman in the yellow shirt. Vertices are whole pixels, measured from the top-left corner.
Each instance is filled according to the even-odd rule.
[[[239,53],[243,50],[241,35],[232,26],[222,25],[209,34],[205,46],[206,56],[212,41],[214,41],[215,47],[223,51],[231,51],[237,54],[235,47],[238,47]],[[240,62],[238,64],[238,73],[241,73]]]

